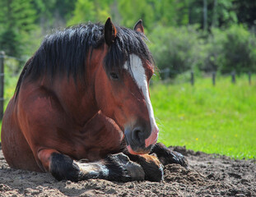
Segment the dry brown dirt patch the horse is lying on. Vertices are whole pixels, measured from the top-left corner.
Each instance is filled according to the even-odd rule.
[[[183,153],[189,169],[165,166],[161,182],[56,181],[47,173],[8,167],[0,145],[0,196],[256,196],[256,160],[170,148]]]

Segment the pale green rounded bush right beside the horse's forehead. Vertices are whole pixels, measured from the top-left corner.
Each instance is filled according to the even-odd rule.
[[[202,40],[196,29],[197,26],[158,26],[151,32],[151,53],[161,70],[170,69],[170,77],[191,70],[200,62]]]

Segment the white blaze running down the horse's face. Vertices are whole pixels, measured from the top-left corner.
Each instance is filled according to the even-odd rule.
[[[156,120],[154,117],[153,108],[151,105],[151,100],[149,98],[148,88],[147,88],[147,76],[145,74],[145,68],[142,65],[142,60],[140,57],[132,54],[130,55],[130,65],[131,65],[131,76],[133,76],[133,80],[135,80],[137,87],[142,89],[142,94],[145,98],[147,104],[147,111],[149,114],[149,119],[151,122],[151,129],[154,130],[157,128]],[[128,70],[128,62],[124,63],[124,68]]]

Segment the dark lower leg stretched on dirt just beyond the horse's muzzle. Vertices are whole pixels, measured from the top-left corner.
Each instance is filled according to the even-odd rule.
[[[183,167],[188,167],[188,160],[184,157],[184,155],[171,151],[165,146],[165,144],[157,143],[151,149],[151,153],[156,153],[157,158],[159,158],[163,165],[178,163]]]

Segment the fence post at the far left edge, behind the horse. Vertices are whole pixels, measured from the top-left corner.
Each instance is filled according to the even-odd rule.
[[[0,51],[0,120],[3,116],[3,87],[4,87],[4,55],[3,51]]]

